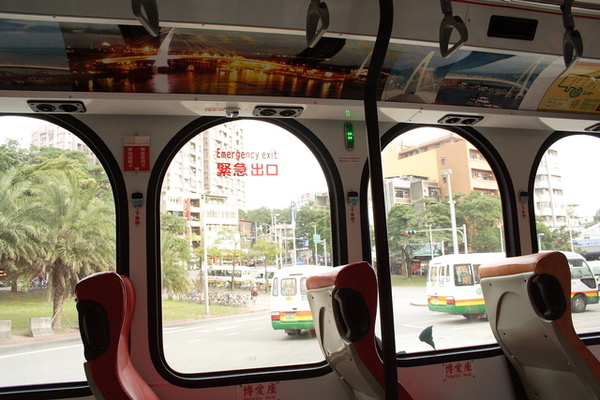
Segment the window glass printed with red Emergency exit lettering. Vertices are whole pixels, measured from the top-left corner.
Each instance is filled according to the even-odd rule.
[[[274,278],[293,265],[331,265],[328,188],[296,136],[257,121],[198,132],[164,176],[161,218],[171,368],[281,366],[282,354],[286,365],[323,360],[298,278]]]

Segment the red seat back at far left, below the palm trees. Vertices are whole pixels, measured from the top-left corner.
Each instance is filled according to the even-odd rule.
[[[79,330],[94,396],[107,400],[158,400],[129,355],[135,291],[128,277],[99,272],[75,288]]]

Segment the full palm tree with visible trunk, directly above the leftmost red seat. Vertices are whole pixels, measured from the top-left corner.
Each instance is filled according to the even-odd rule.
[[[64,302],[79,279],[115,269],[114,206],[99,199],[100,189],[81,179],[81,171],[41,170],[33,177],[37,218],[49,228],[39,244],[46,250],[52,328],[60,329]]]

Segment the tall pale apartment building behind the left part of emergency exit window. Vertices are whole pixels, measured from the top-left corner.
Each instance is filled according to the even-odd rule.
[[[203,218],[208,247],[240,249],[238,210],[246,207],[246,180],[217,151],[242,152],[244,135],[235,123],[218,125],[191,139],[171,161],[161,192],[161,213],[188,220],[192,245],[201,245]],[[232,163],[227,163],[232,164]],[[224,235],[224,232],[234,232]],[[230,237],[225,237],[230,236]]]

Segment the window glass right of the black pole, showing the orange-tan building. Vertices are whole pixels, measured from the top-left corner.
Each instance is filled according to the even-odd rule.
[[[429,326],[438,350],[493,343],[473,268],[504,257],[489,163],[468,140],[438,128],[399,135],[382,162],[397,350],[432,350],[419,340]]]

